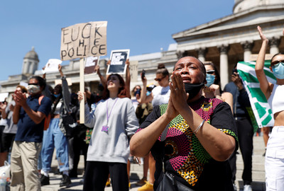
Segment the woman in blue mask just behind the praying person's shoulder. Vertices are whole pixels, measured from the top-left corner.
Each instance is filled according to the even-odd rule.
[[[233,95],[229,92],[223,92],[221,89],[220,75],[217,67],[212,62],[204,63],[206,69],[206,81],[203,96],[205,98],[218,98],[228,103],[233,110]]]

